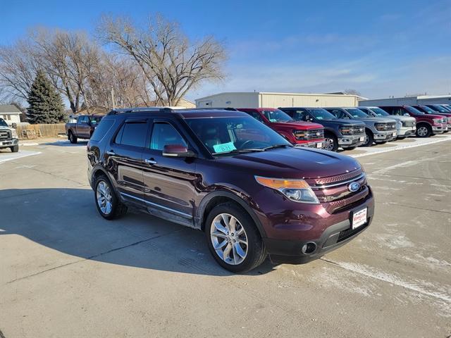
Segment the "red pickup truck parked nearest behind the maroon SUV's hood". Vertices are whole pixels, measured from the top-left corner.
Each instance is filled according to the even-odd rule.
[[[295,146],[324,147],[324,127],[318,123],[299,122],[276,108],[237,108],[276,130]]]

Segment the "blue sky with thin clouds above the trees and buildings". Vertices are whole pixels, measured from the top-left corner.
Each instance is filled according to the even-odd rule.
[[[369,98],[451,92],[451,1],[6,1],[0,44],[37,25],[93,32],[101,13],[161,13],[230,58],[217,92],[335,92]]]

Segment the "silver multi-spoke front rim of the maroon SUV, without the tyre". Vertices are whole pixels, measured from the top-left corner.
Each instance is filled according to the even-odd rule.
[[[219,258],[230,265],[245,260],[248,240],[245,228],[237,218],[228,213],[217,215],[210,227],[211,244]]]

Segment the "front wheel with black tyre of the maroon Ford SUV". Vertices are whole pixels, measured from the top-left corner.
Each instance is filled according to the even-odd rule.
[[[266,250],[254,221],[234,203],[210,211],[205,223],[206,242],[216,262],[233,273],[257,268]]]

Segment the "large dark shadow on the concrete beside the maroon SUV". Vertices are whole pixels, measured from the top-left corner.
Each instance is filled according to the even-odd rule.
[[[104,220],[90,189],[4,189],[0,237],[17,234],[70,256],[136,268],[232,275],[209,253],[204,232],[142,213]],[[61,261],[53,255],[47,265]],[[266,260],[247,275],[273,270]]]

